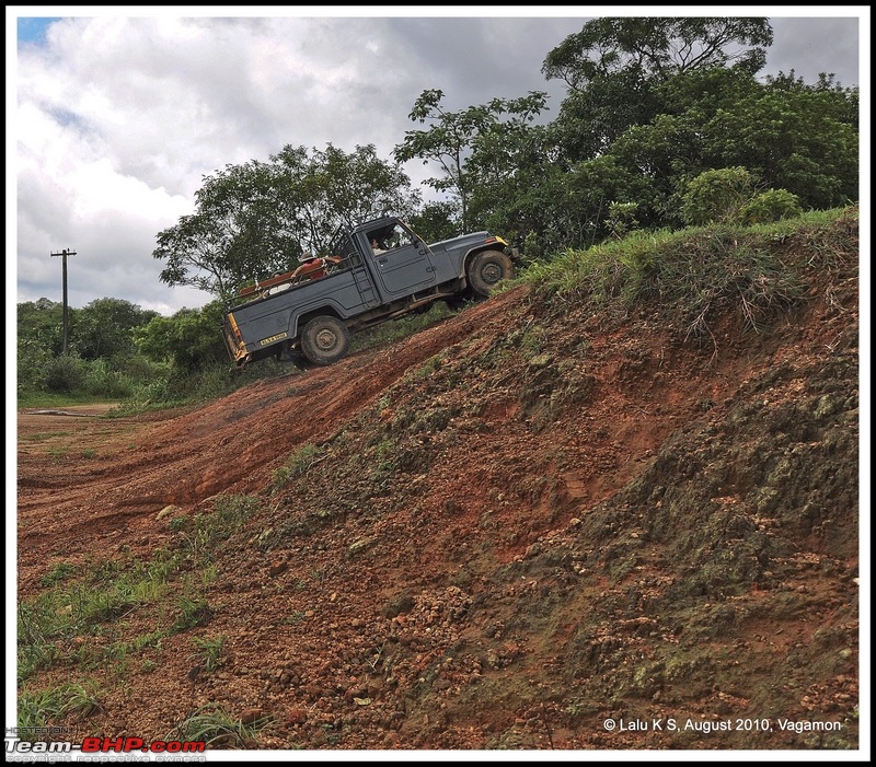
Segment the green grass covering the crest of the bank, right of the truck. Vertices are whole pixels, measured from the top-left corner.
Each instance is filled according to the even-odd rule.
[[[857,208],[849,208],[753,226],[634,232],[564,251],[515,282],[558,312],[584,300],[619,313],[649,301],[685,338],[707,338],[718,311],[728,306],[746,330],[761,332],[806,295],[807,269],[835,268],[856,252]]]

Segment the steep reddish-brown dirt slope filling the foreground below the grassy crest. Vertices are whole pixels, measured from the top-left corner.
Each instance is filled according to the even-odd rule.
[[[257,500],[209,579],[176,573],[195,625],[22,690],[96,681],[66,722],[147,740],[215,705],[263,749],[856,748],[855,260],[760,334],[518,289],[184,412],[70,419],[67,452],[20,435],[22,599]]]

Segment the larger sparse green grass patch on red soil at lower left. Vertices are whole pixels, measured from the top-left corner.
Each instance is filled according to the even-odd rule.
[[[44,591],[18,605],[19,682],[58,664],[91,670],[116,661],[122,669],[127,656],[204,626],[215,613],[206,596],[218,578],[215,553],[257,504],[254,497],[223,496],[211,512],[174,518],[173,543],[150,560],[123,550],[120,559],[54,565],[41,579]],[[154,628],[131,636],[129,616],[145,612]]]

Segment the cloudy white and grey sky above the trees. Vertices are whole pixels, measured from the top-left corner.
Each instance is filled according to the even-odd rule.
[[[8,312],[61,300],[62,259],[50,254],[62,248],[76,251],[71,306],[107,297],[162,314],[200,306],[211,297],[161,282],[152,251],[160,231],[194,210],[205,175],[267,161],[287,144],[351,152],[372,143],[391,160],[405,131],[420,127],[407,114],[426,89],[441,89],[450,109],[544,90],[552,119],[564,91],[541,74],[545,55],[595,15],[650,14],[602,5],[503,11],[514,18],[479,7],[309,10],[7,7]],[[806,12],[757,8],[775,37],[762,74],[794,69],[809,83],[832,72],[867,93],[868,7]],[[434,173],[419,162],[405,170],[417,185]]]

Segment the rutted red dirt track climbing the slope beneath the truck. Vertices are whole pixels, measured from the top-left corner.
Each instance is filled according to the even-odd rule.
[[[55,557],[165,532],[166,505],[193,509],[219,492],[264,487],[299,445],[328,439],[408,368],[500,324],[503,303],[419,334],[416,341],[351,356],[328,369],[260,383],[220,402],[136,418],[99,418],[110,406],[19,414],[19,578],[27,594]],[[71,524],[74,521],[74,524]]]

